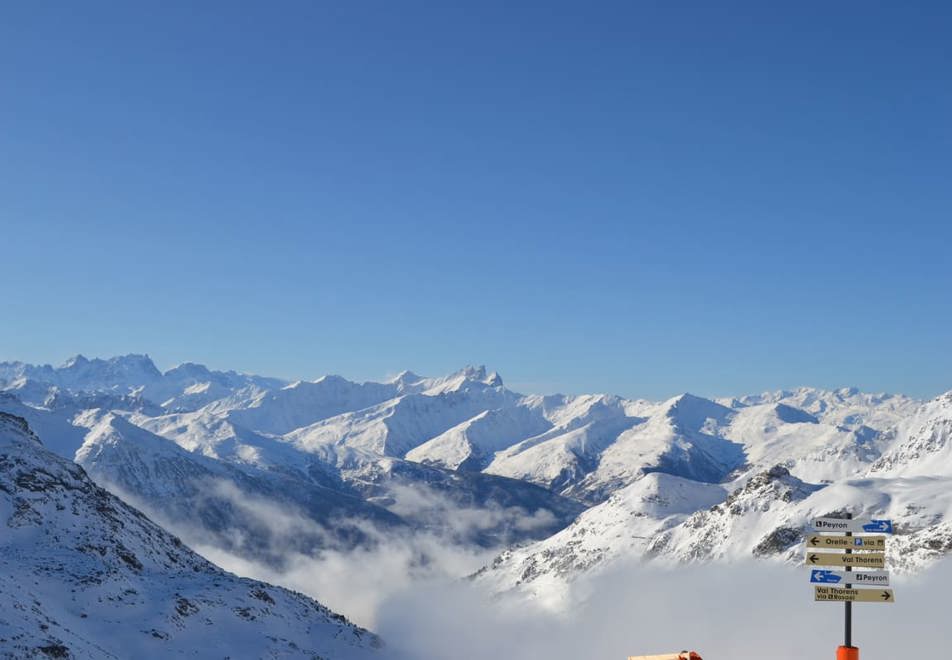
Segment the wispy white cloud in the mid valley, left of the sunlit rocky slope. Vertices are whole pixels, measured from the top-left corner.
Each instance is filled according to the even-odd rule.
[[[339,530],[321,525],[292,506],[242,492],[223,480],[208,480],[203,492],[228,502],[254,530],[255,559],[237,549],[250,547],[248,529],[211,534],[189,520],[173,520],[147,502],[114,492],[177,534],[193,550],[222,568],[305,593],[355,623],[375,628],[384,602],[412,589],[452,583],[490,561],[497,550],[469,542],[481,532],[551,522],[547,512],[529,515],[516,508],[459,507],[425,486],[392,489],[392,509],[431,521],[422,530],[382,529],[371,521],[348,519],[341,525],[359,529],[366,542],[352,547],[339,542]],[[551,514],[549,514],[551,515]],[[322,540],[313,554],[300,551],[299,537]],[[227,544],[223,541],[227,540]],[[263,551],[257,546],[266,545]]]

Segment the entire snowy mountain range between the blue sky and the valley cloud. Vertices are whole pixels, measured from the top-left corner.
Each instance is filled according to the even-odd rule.
[[[363,521],[499,548],[479,579],[539,594],[623,559],[794,561],[810,517],[847,510],[899,523],[903,569],[952,551],[952,395],[652,402],[523,395],[484,367],[287,383],[195,364],[160,372],[144,356],[5,363],[0,390],[0,410],[100,483],[173,525],[198,512],[190,524],[246,556],[269,540],[235,494],[314,521],[321,533],[298,539],[309,550],[361,543]],[[460,510],[491,524],[461,531]]]

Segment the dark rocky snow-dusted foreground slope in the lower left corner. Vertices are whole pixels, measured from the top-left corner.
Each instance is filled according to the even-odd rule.
[[[383,657],[319,603],[205,561],[0,413],[0,657]]]

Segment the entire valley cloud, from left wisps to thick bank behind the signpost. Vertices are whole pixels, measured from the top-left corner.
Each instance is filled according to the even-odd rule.
[[[806,660],[832,658],[842,643],[843,606],[813,602],[806,568],[618,564],[581,577],[557,601],[527,601],[465,579],[495,551],[457,542],[518,512],[454,508],[429,489],[398,490],[395,510],[436,511],[441,522],[412,533],[362,523],[372,544],[307,556],[282,544],[299,533],[331,539],[334,530],[284,505],[212,487],[269,529],[269,550],[280,563],[243,558],[183,521],[159,519],[225,569],[306,593],[373,629],[387,645],[387,660],[621,660],[682,649],[705,660]],[[537,524],[528,517],[525,523]],[[900,579],[896,604],[855,605],[854,641],[863,660],[932,657],[943,648],[947,584],[952,562]],[[553,610],[551,602],[561,607]]]

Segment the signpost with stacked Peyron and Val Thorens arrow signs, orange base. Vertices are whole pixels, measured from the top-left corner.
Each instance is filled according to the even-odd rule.
[[[859,660],[859,649],[853,646],[853,603],[893,603],[896,600],[889,586],[886,571],[853,571],[854,568],[885,568],[886,537],[870,534],[892,534],[891,520],[853,520],[845,518],[817,518],[813,530],[820,532],[807,536],[807,566],[835,566],[845,571],[814,568],[810,571],[813,599],[819,602],[838,602],[844,606],[844,645],[837,650],[837,658]],[[827,536],[837,534],[837,536]],[[838,536],[843,534],[843,536]],[[853,536],[862,534],[863,536]],[[843,552],[818,552],[842,550]],[[855,554],[854,554],[855,552]],[[856,589],[853,585],[876,587]]]

